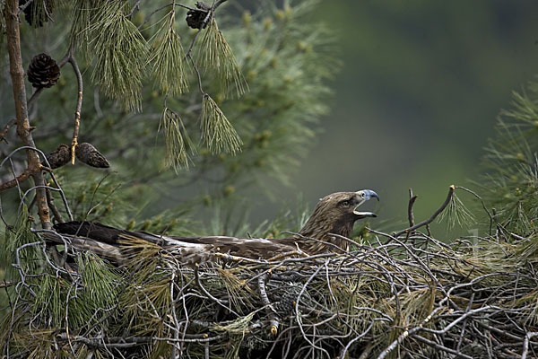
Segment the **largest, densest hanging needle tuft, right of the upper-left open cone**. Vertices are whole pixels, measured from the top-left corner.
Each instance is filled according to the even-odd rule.
[[[140,110],[146,41],[119,5],[113,10],[89,29],[95,36],[91,40],[95,58],[91,77],[103,92],[118,99],[126,109]]]

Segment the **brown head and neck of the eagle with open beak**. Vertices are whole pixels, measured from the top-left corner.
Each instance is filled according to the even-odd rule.
[[[376,214],[372,212],[358,210],[360,205],[371,198],[379,200],[377,193],[371,189],[361,189],[357,192],[336,192],[321,198],[314,213],[310,215],[307,223],[299,231],[301,242],[307,241],[307,243],[298,241],[299,246],[304,247],[304,250],[309,253],[334,251],[334,246],[324,245],[325,241],[333,243],[343,250],[348,250],[347,241],[335,238],[331,234],[349,237],[355,221],[366,217],[376,217]],[[308,241],[307,238],[313,238],[317,241]]]

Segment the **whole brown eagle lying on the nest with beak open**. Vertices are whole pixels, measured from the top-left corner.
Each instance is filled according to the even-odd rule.
[[[109,227],[100,223],[68,222],[55,225],[56,232],[67,236],[74,245],[81,241],[85,249],[91,247],[92,241],[100,243],[100,255],[117,259],[121,256],[121,240],[141,239],[159,244],[168,250],[177,251],[188,261],[214,253],[227,253],[243,258],[273,258],[278,255],[303,253],[313,255],[327,251],[349,250],[348,241],[335,236],[349,237],[355,221],[365,217],[375,217],[371,212],[359,212],[357,207],[377,194],[370,189],[357,192],[337,192],[323,197],[317,203],[314,212],[299,233],[280,239],[253,239],[227,236],[175,237],[156,235],[147,232],[130,232]],[[54,236],[49,240],[57,241]],[[64,238],[65,239],[65,238]],[[110,250],[103,250],[109,246]],[[75,245],[76,247],[76,245]],[[203,259],[202,259],[203,260]]]

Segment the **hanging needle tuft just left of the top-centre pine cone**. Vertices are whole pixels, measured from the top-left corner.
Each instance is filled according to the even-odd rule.
[[[185,52],[178,34],[174,30],[175,12],[169,12],[162,20],[159,31],[151,42],[152,74],[161,92],[178,95],[188,92]]]

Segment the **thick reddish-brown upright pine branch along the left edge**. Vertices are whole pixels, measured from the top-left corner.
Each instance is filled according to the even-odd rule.
[[[24,85],[24,69],[22,68],[21,55],[21,33],[19,29],[19,1],[6,0],[4,5],[5,33],[7,35],[7,49],[9,53],[9,72],[13,83],[13,100],[15,104],[15,114],[17,118],[17,135],[21,138],[22,144],[34,147],[36,144],[30,133],[30,119],[28,118],[28,104],[26,99],[26,87]],[[39,155],[35,151],[26,150],[28,169],[32,172],[32,178],[36,186],[36,196],[38,202],[38,214],[41,225],[45,229],[50,229],[50,214],[47,205],[47,195],[43,173],[39,171]]]

